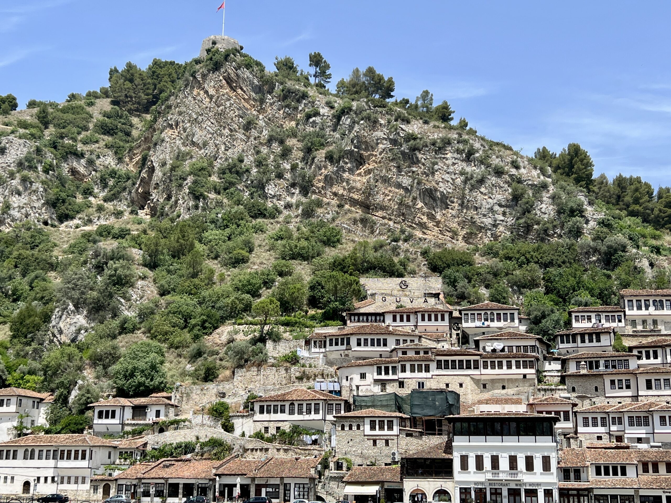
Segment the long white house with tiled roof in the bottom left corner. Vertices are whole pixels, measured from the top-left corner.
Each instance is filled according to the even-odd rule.
[[[93,435],[19,437],[0,443],[3,493],[87,498],[91,477],[116,460],[117,444]]]

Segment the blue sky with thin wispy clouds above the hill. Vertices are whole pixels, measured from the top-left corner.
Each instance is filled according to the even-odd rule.
[[[0,0],[0,94],[63,101],[110,66],[185,61],[221,32],[220,0]],[[397,97],[447,99],[523,154],[578,142],[595,176],[670,185],[671,3],[227,0],[226,34],[272,68],[319,50],[333,82],[373,65]]]

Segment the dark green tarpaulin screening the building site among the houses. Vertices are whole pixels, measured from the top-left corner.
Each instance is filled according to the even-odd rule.
[[[414,417],[450,416],[460,411],[459,394],[454,391],[412,390],[409,395],[385,393],[353,398],[354,410],[376,408]]]

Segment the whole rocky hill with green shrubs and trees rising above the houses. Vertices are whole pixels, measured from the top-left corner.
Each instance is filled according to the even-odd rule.
[[[0,385],[52,392],[50,431],[269,362],[339,325],[360,276],[438,275],[455,306],[517,303],[551,341],[572,306],[668,288],[671,190],[533,158],[393,78],[236,50],[113,68],[64,103],[0,97]]]

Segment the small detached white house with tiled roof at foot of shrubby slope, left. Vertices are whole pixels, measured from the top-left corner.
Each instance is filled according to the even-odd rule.
[[[118,434],[127,428],[152,425],[174,416],[174,403],[160,396],[109,398],[93,407],[93,434]]]

